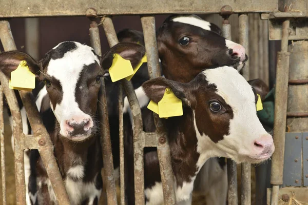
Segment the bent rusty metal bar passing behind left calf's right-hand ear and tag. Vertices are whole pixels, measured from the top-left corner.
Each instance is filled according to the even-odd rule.
[[[103,17],[101,20],[104,31],[109,43],[112,47],[118,44],[117,33],[115,33],[112,19],[110,17]],[[131,81],[126,79],[121,80],[124,91],[126,93],[128,103],[132,113],[133,124],[133,160],[134,160],[134,192],[135,203],[137,205],[144,204],[144,161],[143,161],[143,147],[144,135],[142,126],[141,109],[139,107],[138,99]]]

